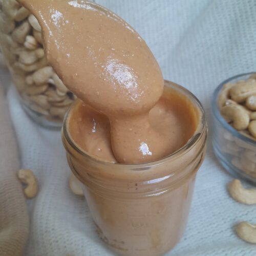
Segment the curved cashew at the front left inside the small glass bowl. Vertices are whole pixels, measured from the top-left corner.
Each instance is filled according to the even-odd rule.
[[[230,104],[223,106],[221,114],[227,121],[233,121],[236,130],[245,130],[249,125],[249,115],[240,105]]]

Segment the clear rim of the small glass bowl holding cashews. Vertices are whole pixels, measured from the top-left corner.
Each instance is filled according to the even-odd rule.
[[[238,79],[243,76],[248,76],[255,74],[255,72],[249,72],[249,73],[244,73],[244,74],[239,74],[236,76],[229,77],[228,79],[224,80],[219,84],[219,86],[215,89],[214,94],[211,97],[211,109],[212,109],[212,114],[216,117],[216,119],[221,123],[221,125],[226,129],[228,132],[230,132],[233,136],[238,137],[239,139],[252,144],[253,146],[256,146],[256,140],[253,140],[251,138],[246,137],[245,135],[241,134],[238,132],[236,129],[234,129],[221,115],[220,110],[218,108],[217,100],[219,97],[219,93],[224,86],[224,84],[231,82],[234,79]]]

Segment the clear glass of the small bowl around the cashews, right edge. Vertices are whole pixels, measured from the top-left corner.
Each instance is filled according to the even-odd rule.
[[[221,165],[232,176],[244,179],[256,185],[256,139],[246,131],[238,132],[221,116],[218,98],[226,83],[236,83],[246,80],[255,73],[233,76],[222,82],[211,99],[212,116],[214,120],[212,145]]]

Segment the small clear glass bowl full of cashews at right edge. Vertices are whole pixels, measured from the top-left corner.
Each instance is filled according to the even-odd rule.
[[[256,73],[222,82],[211,108],[216,157],[233,176],[256,185]]]

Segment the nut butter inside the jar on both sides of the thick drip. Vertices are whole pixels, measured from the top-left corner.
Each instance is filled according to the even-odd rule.
[[[150,111],[150,125],[165,137],[165,151],[170,155],[181,148],[197,129],[197,116],[192,103],[177,91],[165,88]],[[110,122],[103,114],[82,101],[69,115],[69,132],[84,152],[99,159],[117,162],[112,152]],[[142,150],[147,150],[146,145]]]

